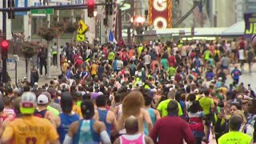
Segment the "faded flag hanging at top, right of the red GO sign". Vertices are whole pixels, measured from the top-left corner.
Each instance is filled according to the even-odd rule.
[[[205,20],[206,20],[206,15],[203,14],[202,11],[202,1],[198,4],[198,6],[196,6],[193,10],[193,14],[195,17],[196,22],[200,23],[200,24],[204,24]]]

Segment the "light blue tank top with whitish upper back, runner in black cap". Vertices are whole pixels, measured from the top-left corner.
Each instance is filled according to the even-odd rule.
[[[94,130],[94,120],[80,120],[78,122],[78,131],[74,134],[73,144],[98,144],[101,142],[99,134],[96,134]]]

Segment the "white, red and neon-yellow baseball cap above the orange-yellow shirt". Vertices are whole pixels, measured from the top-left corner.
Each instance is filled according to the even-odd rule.
[[[37,105],[37,98],[32,92],[25,92],[22,94],[21,113],[34,114],[35,106]]]

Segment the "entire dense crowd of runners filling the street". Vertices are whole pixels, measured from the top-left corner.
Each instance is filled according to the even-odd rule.
[[[0,86],[1,142],[256,142],[254,90],[239,79],[254,63],[250,42],[149,43],[66,43],[62,74],[38,86],[42,48],[40,74],[34,67],[30,80]]]

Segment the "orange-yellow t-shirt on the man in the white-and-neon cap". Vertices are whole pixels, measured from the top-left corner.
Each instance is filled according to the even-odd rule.
[[[9,122],[2,138],[14,138],[14,143],[45,144],[58,139],[57,130],[46,118],[24,116]]]

